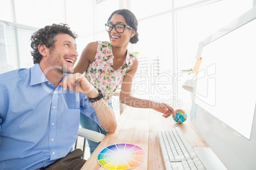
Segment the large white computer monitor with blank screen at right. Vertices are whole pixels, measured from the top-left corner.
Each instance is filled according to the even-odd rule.
[[[191,122],[227,169],[256,169],[256,7],[201,44]],[[200,47],[199,47],[200,48]]]

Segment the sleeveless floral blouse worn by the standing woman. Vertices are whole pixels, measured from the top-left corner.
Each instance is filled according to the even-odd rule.
[[[103,93],[104,100],[108,103],[118,86],[122,84],[125,74],[134,63],[135,56],[127,51],[127,56],[123,65],[118,69],[113,69],[113,52],[110,42],[97,41],[97,52],[94,62],[89,64],[85,71],[85,77],[96,88]]]

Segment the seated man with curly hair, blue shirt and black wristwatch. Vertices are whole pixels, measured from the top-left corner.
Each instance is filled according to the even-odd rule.
[[[80,111],[113,133],[115,114],[82,74],[73,73],[76,34],[53,24],[31,36],[34,66],[0,75],[0,169],[80,169],[73,150]]]

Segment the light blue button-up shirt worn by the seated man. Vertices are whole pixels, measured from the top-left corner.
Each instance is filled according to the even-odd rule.
[[[1,74],[0,169],[38,169],[65,157],[78,135],[80,110],[99,124],[87,96],[54,88],[39,64]]]

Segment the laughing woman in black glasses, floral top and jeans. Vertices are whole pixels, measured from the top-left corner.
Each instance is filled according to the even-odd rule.
[[[80,60],[75,67],[75,72],[80,72],[94,85],[101,90],[104,100],[109,103],[111,97],[122,84],[120,91],[120,102],[131,107],[153,108],[161,112],[164,117],[174,114],[173,108],[165,103],[156,103],[150,100],[143,100],[131,96],[132,79],[138,68],[138,59],[127,50],[129,42],[136,44],[138,39],[138,20],[129,10],[114,11],[105,24],[110,42],[96,41],[87,44],[83,49]],[[111,105],[111,104],[110,104]],[[81,114],[80,124],[82,128],[100,131],[97,123],[89,117]],[[99,143],[89,141],[90,154]]]

